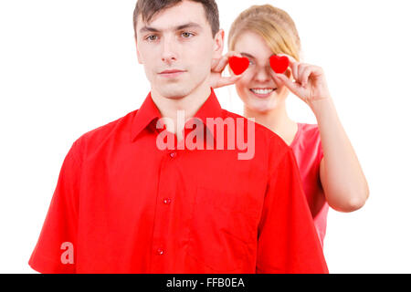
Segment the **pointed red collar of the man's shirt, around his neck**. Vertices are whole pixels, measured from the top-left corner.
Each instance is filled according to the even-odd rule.
[[[206,126],[206,118],[221,118],[221,106],[216,98],[216,93],[214,89],[211,89],[210,96],[208,99],[205,100],[205,103],[201,106],[199,110],[195,113],[193,118],[201,120],[203,125]],[[132,120],[132,141],[134,141],[137,136],[145,129],[154,119],[161,118],[162,115],[160,110],[158,110],[157,106],[155,105],[152,93],[150,92],[146,99],[143,101],[142,106],[139,110],[135,113],[133,120]],[[208,129],[212,130],[213,129]],[[210,132],[210,133],[211,133]],[[214,137],[215,138],[215,137]]]

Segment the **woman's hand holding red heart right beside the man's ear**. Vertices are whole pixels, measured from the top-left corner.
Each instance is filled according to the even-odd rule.
[[[227,67],[229,57],[242,57],[240,54],[234,51],[229,51],[225,56],[221,58],[214,58],[211,65],[211,75],[210,75],[210,86],[213,89],[222,88],[231,84],[234,84],[243,77],[244,73],[241,75],[233,75],[230,77],[223,77],[223,71]]]

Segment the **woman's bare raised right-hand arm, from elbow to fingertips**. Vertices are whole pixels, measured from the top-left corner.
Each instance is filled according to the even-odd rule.
[[[284,54],[281,54],[284,55]],[[361,208],[368,198],[368,183],[337,111],[322,68],[290,59],[295,82],[283,74],[271,73],[277,84],[285,84],[314,112],[320,129],[324,157],[320,165],[321,184],[327,202],[340,212]]]

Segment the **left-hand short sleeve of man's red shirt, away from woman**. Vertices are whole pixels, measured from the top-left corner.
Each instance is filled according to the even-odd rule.
[[[78,141],[66,155],[46,220],[28,265],[40,273],[76,271],[80,160]]]

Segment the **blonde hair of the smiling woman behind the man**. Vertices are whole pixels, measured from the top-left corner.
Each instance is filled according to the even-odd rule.
[[[230,27],[230,51],[245,31],[262,36],[273,54],[288,54],[300,62],[300,36],[294,21],[284,10],[271,5],[252,5],[244,10]]]

